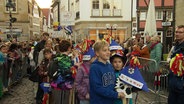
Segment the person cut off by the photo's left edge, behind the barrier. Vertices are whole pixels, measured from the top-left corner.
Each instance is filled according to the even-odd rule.
[[[0,99],[3,96],[3,72],[5,70],[7,47],[5,44],[0,45]]]

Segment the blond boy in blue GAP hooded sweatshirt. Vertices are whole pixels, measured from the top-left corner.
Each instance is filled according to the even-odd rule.
[[[115,99],[124,98],[124,93],[114,91],[115,75],[110,58],[109,44],[99,41],[94,44],[97,56],[90,67],[90,104],[113,104]]]

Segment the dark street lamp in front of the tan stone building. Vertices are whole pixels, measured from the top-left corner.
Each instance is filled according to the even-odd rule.
[[[12,23],[14,23],[14,22],[17,21],[17,18],[12,17],[12,13],[11,13],[11,10],[13,8],[15,8],[15,4],[12,3],[12,0],[8,0],[8,2],[6,3],[6,7],[9,10],[9,17],[10,17],[10,25],[9,25],[9,28],[10,28],[10,38],[12,38]]]

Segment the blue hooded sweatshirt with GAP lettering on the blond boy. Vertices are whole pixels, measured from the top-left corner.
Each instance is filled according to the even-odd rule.
[[[94,61],[90,68],[89,83],[90,104],[113,104],[113,100],[117,99],[115,73],[110,63]]]

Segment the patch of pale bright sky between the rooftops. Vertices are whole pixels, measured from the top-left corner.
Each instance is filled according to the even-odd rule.
[[[40,8],[49,8],[52,0],[36,0]]]

